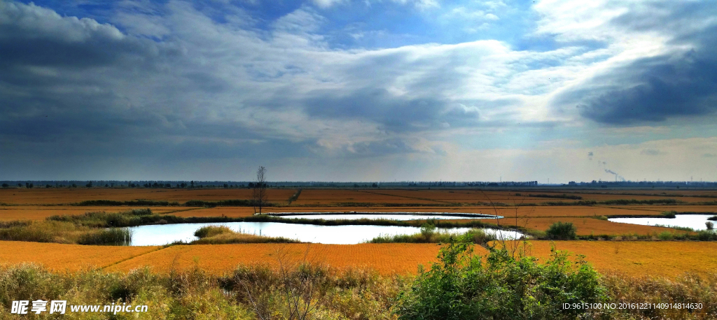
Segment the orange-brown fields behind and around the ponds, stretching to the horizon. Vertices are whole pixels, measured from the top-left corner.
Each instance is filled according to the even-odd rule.
[[[717,212],[717,205],[534,205],[493,208],[485,203],[488,198],[495,203],[543,203],[546,201],[574,201],[555,198],[529,198],[529,194],[580,195],[592,200],[614,200],[639,198],[643,200],[670,198],[665,195],[683,195],[677,200],[713,200],[695,198],[695,195],[713,195],[714,191],[670,190],[659,195],[657,190],[384,190],[384,189],[305,189],[299,198],[290,205],[288,199],[296,192],[294,189],[269,189],[269,200],[280,207],[264,208],[265,212],[331,212],[331,211],[369,211],[369,212],[461,212],[503,215],[501,224],[546,230],[556,221],[572,222],[580,235],[622,235],[637,233],[641,235],[660,233],[665,228],[635,226],[624,223],[612,223],[592,219],[601,215],[659,215],[663,211],[678,212]],[[516,193],[521,196],[516,196]],[[645,195],[625,195],[624,193],[642,193]],[[0,220],[42,220],[50,215],[77,215],[87,211],[100,210],[117,212],[138,207],[92,206],[80,207],[67,205],[83,200],[166,200],[184,203],[188,200],[229,200],[250,199],[250,189],[145,189],[145,188],[7,188],[0,189]],[[674,198],[674,197],[673,197]],[[390,204],[394,203],[394,206]],[[411,206],[416,204],[416,206]],[[451,206],[454,205],[455,206]],[[474,204],[474,205],[471,205]],[[387,205],[387,206],[386,206]],[[181,217],[220,217],[241,218],[254,214],[252,207],[187,208],[152,207],[154,213],[171,213]],[[494,219],[485,220],[495,223]]]

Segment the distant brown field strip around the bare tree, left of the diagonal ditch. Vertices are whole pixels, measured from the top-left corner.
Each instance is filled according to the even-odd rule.
[[[285,203],[296,190],[267,189],[269,201]],[[69,204],[84,200],[164,200],[185,203],[189,200],[251,199],[251,189],[145,189],[145,188],[34,188],[0,189],[0,203]]]

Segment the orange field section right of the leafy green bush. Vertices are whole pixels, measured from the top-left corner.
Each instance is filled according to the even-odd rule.
[[[548,258],[551,241],[530,241],[533,256]],[[598,271],[629,276],[715,273],[717,243],[698,241],[555,241],[558,250],[584,254]]]

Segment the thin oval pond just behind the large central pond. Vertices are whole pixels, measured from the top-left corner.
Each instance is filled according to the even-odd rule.
[[[305,213],[267,213],[275,217],[286,219],[324,219],[324,220],[354,220],[354,219],[388,219],[388,220],[427,220],[427,219],[495,219],[503,218],[497,215],[484,215],[480,213],[452,213],[452,212],[305,212]]]

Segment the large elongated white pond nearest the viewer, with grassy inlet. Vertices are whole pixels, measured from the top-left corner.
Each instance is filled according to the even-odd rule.
[[[316,226],[277,222],[227,222],[227,223],[177,223],[166,225],[138,226],[133,231],[130,246],[161,246],[174,241],[194,241],[194,231],[204,226],[227,226],[234,231],[261,236],[292,238],[302,242],[328,244],[356,244],[369,241],[377,236],[420,233],[421,228],[404,226]],[[465,233],[470,228],[437,229],[451,233]],[[496,234],[506,239],[520,238],[522,233],[483,229],[485,233]]]

